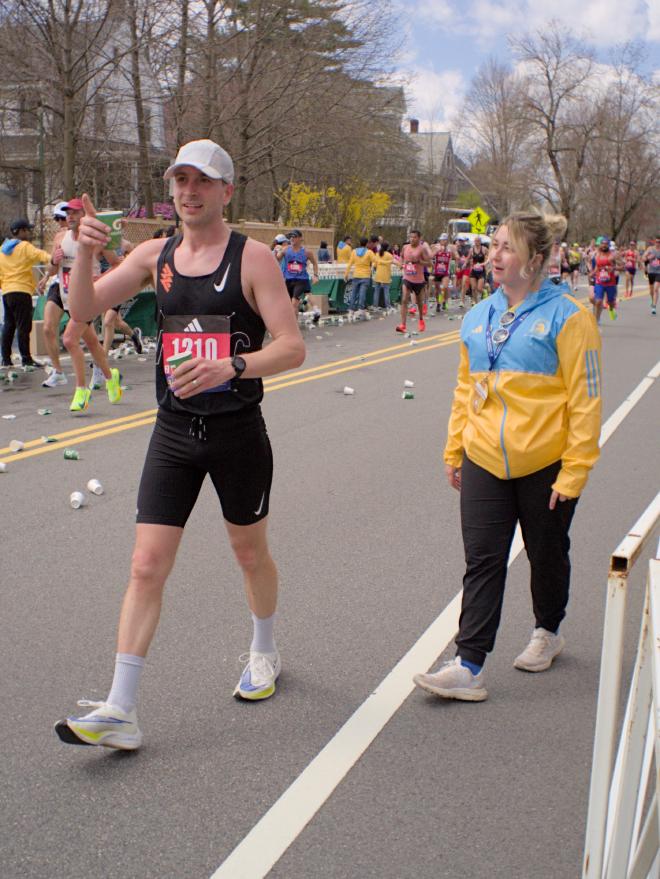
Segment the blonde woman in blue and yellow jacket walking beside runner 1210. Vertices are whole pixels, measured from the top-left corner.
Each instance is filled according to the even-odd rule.
[[[437,696],[487,698],[482,671],[500,621],[520,522],[535,626],[514,665],[545,671],[564,646],[568,532],[598,458],[600,335],[566,284],[546,275],[563,217],[511,214],[489,258],[499,289],[465,315],[445,470],[461,494],[466,571],[457,656],[415,683]]]

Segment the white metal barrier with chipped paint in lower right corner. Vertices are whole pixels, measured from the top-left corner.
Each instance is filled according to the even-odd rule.
[[[583,879],[660,875],[660,546],[649,562],[637,657],[614,760],[628,578],[658,520],[660,494],[610,560]]]

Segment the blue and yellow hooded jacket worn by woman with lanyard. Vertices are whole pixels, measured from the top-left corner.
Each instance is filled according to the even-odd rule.
[[[510,309],[529,314],[492,370],[485,329],[491,308],[493,331],[509,310],[501,288],[465,315],[447,464],[460,467],[465,453],[499,479],[515,479],[561,459],[553,489],[567,497],[582,492],[599,455],[600,334],[568,289],[544,281]],[[476,412],[475,385],[483,380],[488,396]]]

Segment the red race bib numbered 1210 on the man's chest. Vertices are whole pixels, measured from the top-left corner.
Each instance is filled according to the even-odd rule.
[[[167,383],[170,384],[174,369],[168,358],[188,354],[206,360],[222,360],[230,356],[231,323],[225,314],[169,314],[163,317],[161,334],[161,357]],[[229,391],[231,382],[224,382],[202,394]]]

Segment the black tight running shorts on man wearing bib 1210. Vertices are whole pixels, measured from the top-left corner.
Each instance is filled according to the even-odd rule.
[[[183,528],[207,473],[228,522],[254,525],[268,515],[273,455],[259,407],[203,418],[159,409],[136,521]]]

